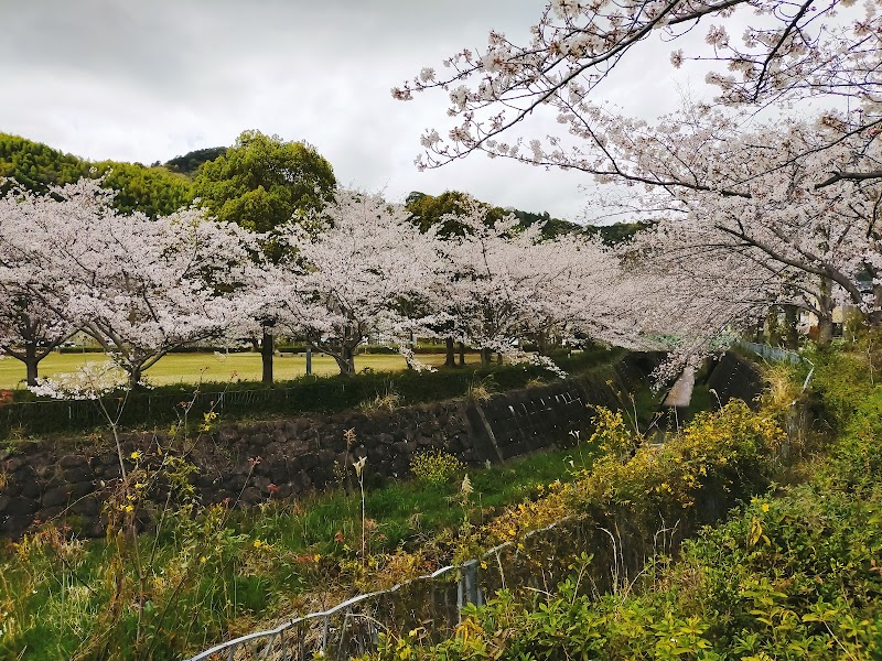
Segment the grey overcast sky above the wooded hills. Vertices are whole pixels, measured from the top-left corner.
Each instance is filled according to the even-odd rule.
[[[389,89],[496,29],[525,42],[528,0],[0,0],[0,131],[92,160],[144,164],[228,145],[245,129],[305,140],[344,185],[467,191],[578,219],[585,175],[483,154],[417,172],[419,138],[449,126],[441,94]],[[606,86],[637,113],[674,109],[671,46],[641,51]],[[535,134],[550,118],[537,118]]]

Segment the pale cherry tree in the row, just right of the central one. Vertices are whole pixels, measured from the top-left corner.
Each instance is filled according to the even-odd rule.
[[[474,199],[463,207],[462,236],[444,242],[449,283],[434,302],[456,339],[486,364],[493,351],[521,359],[529,338],[609,337],[617,317],[599,302],[615,280],[615,256],[574,235],[542,241],[539,225],[523,228],[514,215],[490,220]]]

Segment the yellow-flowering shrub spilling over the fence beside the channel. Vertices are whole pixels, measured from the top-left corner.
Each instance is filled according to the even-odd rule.
[[[577,473],[572,481],[548,485],[538,500],[525,501],[478,528],[458,557],[474,557],[574,512],[609,528],[621,520],[635,544],[641,534],[652,541],[659,517],[693,525],[719,518],[740,499],[765,490],[775,475],[775,453],[784,434],[773,420],[740,400],[698,414],[662,446],[632,431],[620,412],[596,411],[589,445],[599,447],[601,456],[591,469]]]

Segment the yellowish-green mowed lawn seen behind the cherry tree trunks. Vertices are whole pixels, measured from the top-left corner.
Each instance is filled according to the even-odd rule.
[[[71,372],[85,362],[103,361],[103,354],[51,354],[40,362],[40,376]],[[443,354],[424,354],[419,359],[433,366],[444,364]],[[467,362],[480,361],[477,354],[466,354]],[[355,369],[370,368],[374,371],[405,369],[405,359],[397,354],[364,354],[355,357]],[[337,364],[330,356],[313,354],[312,372],[321,376],[340,373]],[[276,357],[273,377],[278,381],[295,379],[306,373],[305,356]],[[235,376],[234,376],[235,375]],[[197,383],[200,381],[259,381],[261,376],[260,354],[170,354],[146,372],[150,383]],[[24,364],[14,358],[0,360],[0,388],[23,388]]]

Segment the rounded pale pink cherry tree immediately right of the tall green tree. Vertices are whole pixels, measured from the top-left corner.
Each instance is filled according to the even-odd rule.
[[[292,254],[262,295],[280,324],[355,371],[368,336],[402,346],[430,334],[438,316],[416,302],[440,284],[439,242],[420,232],[407,209],[378,194],[341,189],[311,223],[292,226]]]

